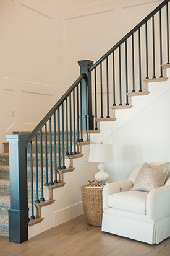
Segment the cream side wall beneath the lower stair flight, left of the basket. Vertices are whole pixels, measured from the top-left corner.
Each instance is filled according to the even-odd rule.
[[[95,175],[88,167],[88,151],[88,145],[82,146],[83,157],[73,160],[74,172],[64,174],[64,182],[66,182],[64,187],[53,190],[53,198],[56,201],[52,205],[41,208],[41,215],[44,219],[41,223],[29,227],[29,239],[83,214],[80,187],[88,183],[87,180]],[[66,160],[66,166],[69,166],[69,159]],[[45,191],[45,198],[48,198],[48,189]]]

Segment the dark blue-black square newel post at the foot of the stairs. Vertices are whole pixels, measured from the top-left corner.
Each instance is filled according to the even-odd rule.
[[[28,240],[27,155],[28,135],[6,135],[9,141],[9,242],[20,244]]]

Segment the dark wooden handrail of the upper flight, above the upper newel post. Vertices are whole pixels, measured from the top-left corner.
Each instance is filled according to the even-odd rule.
[[[156,9],[154,9],[152,12],[150,12],[150,14],[148,14],[147,17],[145,17],[145,19],[143,19],[141,22],[139,22],[134,27],[134,29],[130,30],[130,32],[127,33],[127,35],[125,35],[118,43],[116,43],[116,45],[114,45],[109,51],[107,51],[107,53],[105,53],[98,61],[96,61],[96,63],[93,64],[93,66],[91,66],[89,71],[92,71],[93,69],[95,69],[102,61],[104,61],[109,55],[111,55],[111,53],[113,53],[113,51],[115,51],[120,45],[122,45],[122,43],[124,43],[125,40],[127,40],[140,27],[142,27],[145,24],[145,22],[147,22],[149,19],[151,19],[151,17],[153,15],[155,15],[157,12],[159,12],[159,9],[163,8],[164,6],[166,6],[166,3],[169,2],[169,1],[170,0],[164,0],[163,2],[161,2],[161,4],[159,4],[159,6],[156,7]]]

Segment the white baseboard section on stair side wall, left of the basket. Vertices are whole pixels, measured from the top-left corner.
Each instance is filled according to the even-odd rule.
[[[56,227],[70,219],[74,219],[77,216],[83,214],[83,203],[76,203],[75,205],[71,205],[62,210],[56,211],[53,213],[53,227]]]

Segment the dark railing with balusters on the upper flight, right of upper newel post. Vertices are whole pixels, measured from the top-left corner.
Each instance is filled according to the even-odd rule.
[[[155,60],[156,58],[159,58],[159,77],[163,77],[163,68],[161,65],[163,63],[169,64],[168,2],[169,0],[165,0],[159,4],[159,6],[156,7],[154,11],[147,15],[147,17],[145,17],[145,19],[137,24],[134,29],[130,30],[127,35],[125,35],[118,43],[116,43],[116,45],[114,45],[106,54],[100,58],[100,60],[96,61],[96,63],[93,64],[93,66],[91,66],[89,69],[90,73],[93,73],[91,76],[93,77],[92,85],[94,86],[95,92],[95,106],[93,110],[95,113],[95,118],[110,118],[109,107],[111,105],[129,105],[127,96],[129,90],[131,90],[132,93],[143,91],[142,63],[145,62],[146,65],[146,79],[156,78],[156,74],[158,77],[158,69],[156,69],[156,64],[158,61],[156,63]],[[166,19],[164,19],[165,17]],[[166,27],[166,35],[163,34],[163,25]],[[149,35],[151,35],[151,37]],[[143,38],[145,38],[145,43],[143,42]],[[159,48],[156,48],[155,42],[159,45]],[[149,51],[148,46],[152,47],[151,51]],[[151,58],[149,58],[150,55],[152,55],[152,61]],[[129,63],[128,66],[127,63]],[[106,66],[106,72],[104,66]],[[99,74],[99,76],[97,76],[97,74]],[[97,77],[100,77],[98,81]],[[103,77],[106,77],[106,79],[104,80]],[[130,80],[132,81],[131,85]],[[112,92],[113,101],[110,96]],[[123,95],[123,92],[125,92],[125,95]],[[104,94],[106,94],[106,101],[103,100]],[[97,97],[98,95],[100,96]],[[124,100],[123,96],[125,96]],[[100,105],[100,107],[97,107],[98,105]],[[97,115],[99,112],[100,117]],[[98,127],[96,122],[95,130],[97,129]]]

